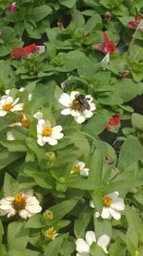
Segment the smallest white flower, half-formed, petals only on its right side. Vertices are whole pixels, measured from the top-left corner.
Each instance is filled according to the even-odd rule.
[[[85,168],[85,163],[80,161],[75,161],[72,165],[71,174],[80,174],[82,176],[89,175],[89,169]]]

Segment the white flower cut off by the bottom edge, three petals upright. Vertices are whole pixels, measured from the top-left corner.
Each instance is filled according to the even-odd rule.
[[[90,247],[92,242],[98,244],[106,253],[107,245],[110,243],[110,237],[107,235],[102,235],[98,240],[96,240],[95,233],[93,231],[88,231],[86,233],[86,240],[84,239],[77,239],[76,244],[76,256],[90,256]]]

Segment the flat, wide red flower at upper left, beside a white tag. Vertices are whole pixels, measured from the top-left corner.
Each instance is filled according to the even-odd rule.
[[[35,43],[32,43],[29,46],[14,48],[11,51],[10,56],[11,58],[25,58],[28,57],[31,53],[38,52],[39,50],[40,47],[35,45]]]

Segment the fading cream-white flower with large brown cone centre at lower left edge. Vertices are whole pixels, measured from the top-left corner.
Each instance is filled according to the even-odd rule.
[[[32,191],[0,200],[0,215],[7,215],[8,218],[18,214],[22,219],[27,220],[41,210],[42,207],[39,205],[38,199],[33,196]]]

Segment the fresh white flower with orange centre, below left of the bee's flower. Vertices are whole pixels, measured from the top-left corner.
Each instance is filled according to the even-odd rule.
[[[51,146],[56,145],[57,140],[64,136],[61,131],[61,126],[52,128],[49,120],[45,121],[44,119],[40,119],[37,124],[37,143],[40,146],[44,146],[46,143],[49,143]]]

